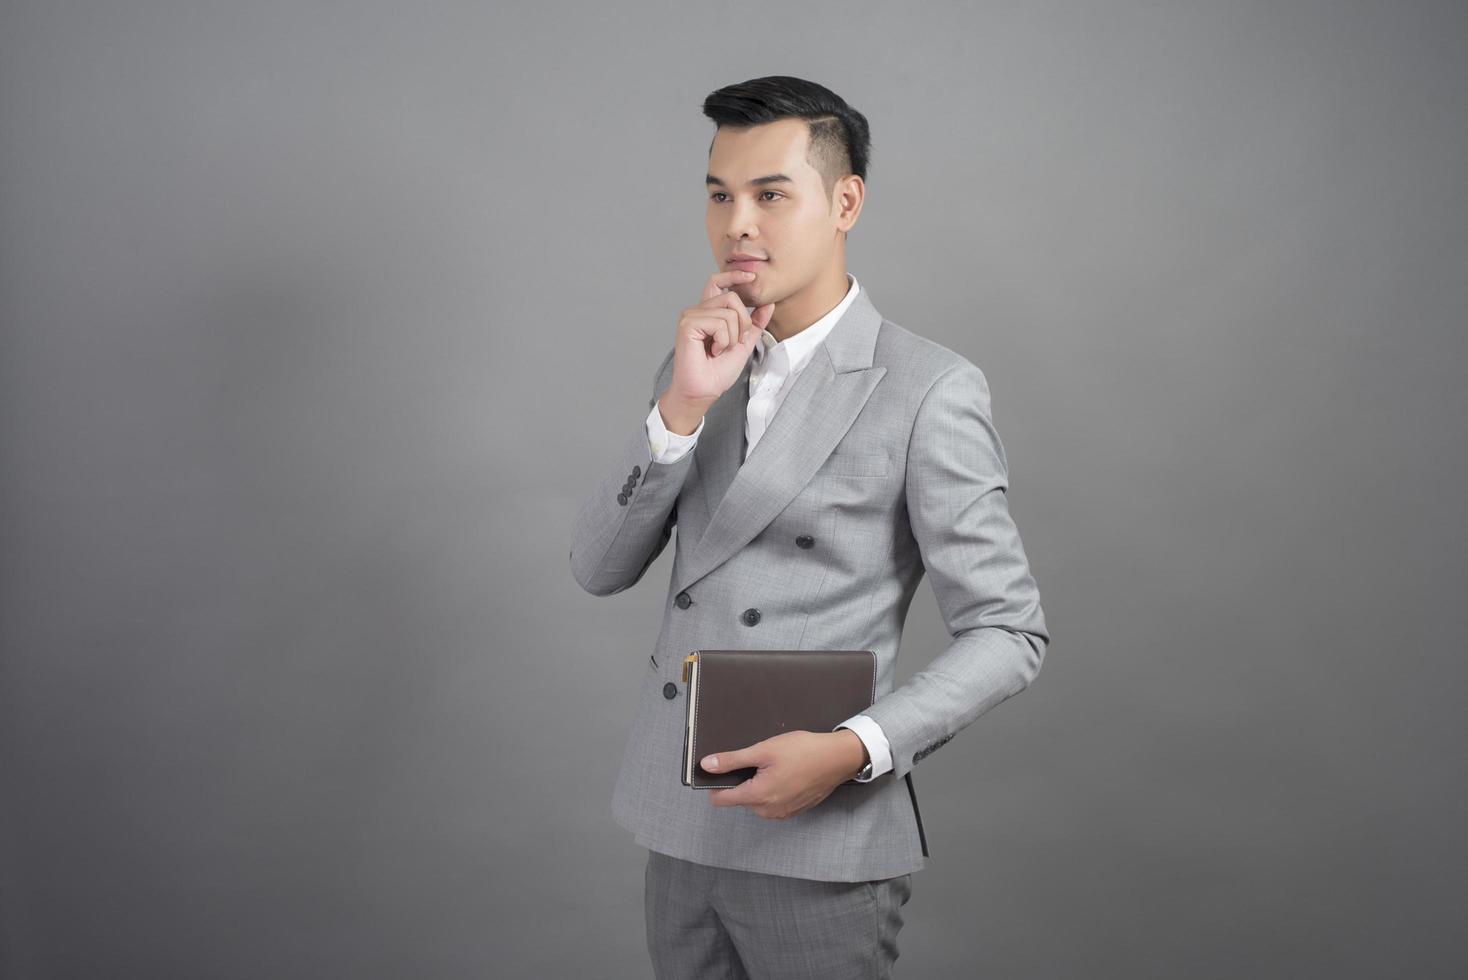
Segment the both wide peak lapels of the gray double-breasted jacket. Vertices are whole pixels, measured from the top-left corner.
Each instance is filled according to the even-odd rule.
[[[882,317],[860,289],[796,379],[769,428],[744,455],[749,373],[709,409],[694,452],[712,511],[708,528],[681,565],[683,591],[744,547],[785,509],[856,421],[885,367],[872,367]]]

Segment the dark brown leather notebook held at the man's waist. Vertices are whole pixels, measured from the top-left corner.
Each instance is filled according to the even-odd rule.
[[[688,713],[683,785],[737,786],[756,767],[711,773],[699,760],[781,732],[829,732],[876,700],[871,650],[694,650],[683,662]]]

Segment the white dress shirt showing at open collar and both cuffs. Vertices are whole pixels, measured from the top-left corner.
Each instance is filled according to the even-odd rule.
[[[850,286],[847,286],[841,302],[800,333],[777,343],[769,330],[760,332],[759,343],[755,345],[755,367],[749,373],[749,408],[744,412],[746,458],[755,447],[755,443],[759,442],[759,437],[769,428],[769,420],[775,417],[780,403],[785,401],[785,395],[790,392],[790,386],[796,383],[796,377],[810,362],[810,355],[815,354],[821,342],[831,333],[835,321],[841,318],[846,308],[856,299],[860,285],[857,285],[856,276],[851,273],[847,273],[846,277],[850,280]],[[699,427],[687,436],[668,431],[666,424],[662,421],[662,412],[658,411],[658,405],[655,403],[652,412],[647,414],[647,447],[652,450],[652,461],[674,462],[681,459],[684,453],[693,452],[693,446],[699,442],[699,433],[702,431],[702,418],[699,420]],[[876,722],[866,714],[854,714],[835,728],[849,728],[856,732],[856,736],[866,745],[866,754],[872,757],[872,775],[857,782],[871,782],[891,770],[891,747],[887,735],[882,734],[882,728]]]

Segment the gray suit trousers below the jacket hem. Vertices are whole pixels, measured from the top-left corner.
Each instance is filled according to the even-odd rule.
[[[647,851],[658,980],[888,980],[912,874],[871,882],[696,864]]]

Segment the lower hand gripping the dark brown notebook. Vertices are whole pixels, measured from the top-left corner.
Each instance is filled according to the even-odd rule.
[[[737,786],[709,791],[715,807],[749,807],[769,820],[807,810],[866,764],[866,745],[851,729],[781,732],[746,748],[705,756],[700,764],[722,773],[756,767]],[[712,764],[711,764],[712,763]]]

